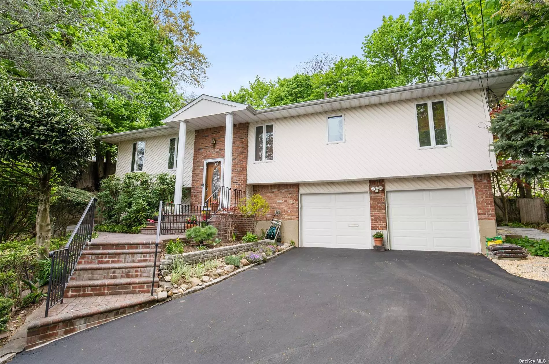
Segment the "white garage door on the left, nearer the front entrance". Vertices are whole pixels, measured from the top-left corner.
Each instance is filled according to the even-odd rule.
[[[371,248],[367,193],[301,195],[302,246]]]

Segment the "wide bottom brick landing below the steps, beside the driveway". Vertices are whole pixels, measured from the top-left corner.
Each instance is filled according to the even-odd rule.
[[[26,350],[51,340],[116,319],[156,303],[148,294],[123,294],[108,297],[65,298],[42,317],[27,327]]]

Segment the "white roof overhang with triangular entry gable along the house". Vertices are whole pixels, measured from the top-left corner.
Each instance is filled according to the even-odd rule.
[[[510,70],[472,74],[470,76],[447,78],[390,89],[368,91],[360,94],[329,97],[328,99],[305,101],[259,110],[243,103],[209,95],[200,95],[197,99],[194,99],[183,108],[165,118],[163,122],[166,125],[102,135],[98,136],[97,139],[107,143],[119,143],[125,140],[136,140],[137,138],[176,134],[178,132],[178,124],[183,120],[187,122],[187,130],[215,128],[216,126],[225,125],[225,115],[227,113],[233,114],[234,124],[260,122],[464,91],[478,90],[480,95],[480,93],[484,93],[487,86],[501,100],[505,97],[507,90],[522,76],[526,68],[511,68]],[[484,95],[482,96],[484,97]]]

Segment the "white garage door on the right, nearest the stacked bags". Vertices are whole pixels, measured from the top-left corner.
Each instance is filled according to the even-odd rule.
[[[479,252],[471,188],[388,191],[391,249]]]

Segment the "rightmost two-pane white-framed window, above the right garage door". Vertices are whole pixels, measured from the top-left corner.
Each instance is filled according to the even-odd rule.
[[[444,100],[416,103],[416,119],[420,148],[450,145]]]

